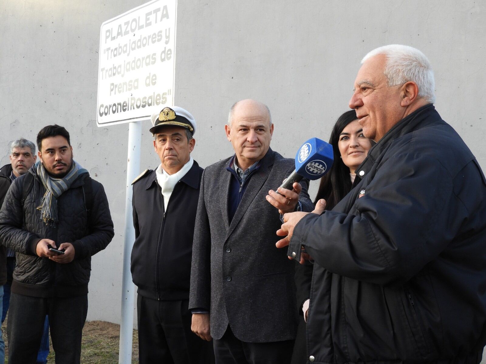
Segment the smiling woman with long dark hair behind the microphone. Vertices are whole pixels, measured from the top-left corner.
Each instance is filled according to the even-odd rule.
[[[356,168],[363,163],[368,150],[375,144],[364,137],[363,128],[358,123],[355,110],[349,110],[339,116],[332,128],[329,144],[332,145],[334,163],[329,172],[321,178],[319,190],[314,200],[316,209],[332,210],[349,191],[356,177]],[[324,201],[326,203],[324,204]],[[325,207],[324,207],[325,206]],[[295,284],[297,286],[297,304],[303,314],[297,328],[292,364],[306,363],[305,322],[309,309],[311,291],[312,264],[306,261],[295,267]]]

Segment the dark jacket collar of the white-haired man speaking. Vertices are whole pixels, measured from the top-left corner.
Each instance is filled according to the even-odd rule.
[[[436,117],[431,118],[430,116],[435,115]],[[401,119],[397,124],[395,124],[385,135],[376,143],[368,152],[367,157],[364,159],[363,163],[356,169],[356,179],[353,183],[355,186],[360,179],[362,179],[370,170],[371,166],[376,162],[378,157],[382,152],[387,149],[390,144],[399,137],[413,132],[418,127],[423,127],[435,120],[440,119],[439,114],[435,111],[433,104],[427,104],[412,114],[407,115]],[[359,178],[358,178],[359,177]]]

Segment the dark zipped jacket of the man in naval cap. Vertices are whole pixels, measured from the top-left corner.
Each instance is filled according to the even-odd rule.
[[[156,171],[133,184],[135,243],[131,271],[138,294],[157,300],[189,298],[192,238],[203,168],[196,161],[175,184],[167,211]]]

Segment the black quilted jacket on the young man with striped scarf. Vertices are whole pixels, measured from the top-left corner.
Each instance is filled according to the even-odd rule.
[[[12,292],[33,297],[75,297],[87,294],[91,256],[106,248],[113,238],[113,222],[103,185],[86,175],[75,180],[58,199],[57,227],[40,219],[37,206],[45,193],[35,168],[33,186],[22,204],[22,175],[12,182],[0,210],[0,242],[16,251]],[[85,181],[92,183],[92,208],[86,208]],[[59,246],[74,246],[74,260],[58,264],[35,254],[40,239],[52,239]]]

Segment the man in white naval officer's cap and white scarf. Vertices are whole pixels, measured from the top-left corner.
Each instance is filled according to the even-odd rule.
[[[183,108],[152,116],[155,170],[133,184],[133,282],[138,286],[140,364],[206,364],[212,345],[191,332],[192,238],[203,169],[190,155],[196,122]]]

